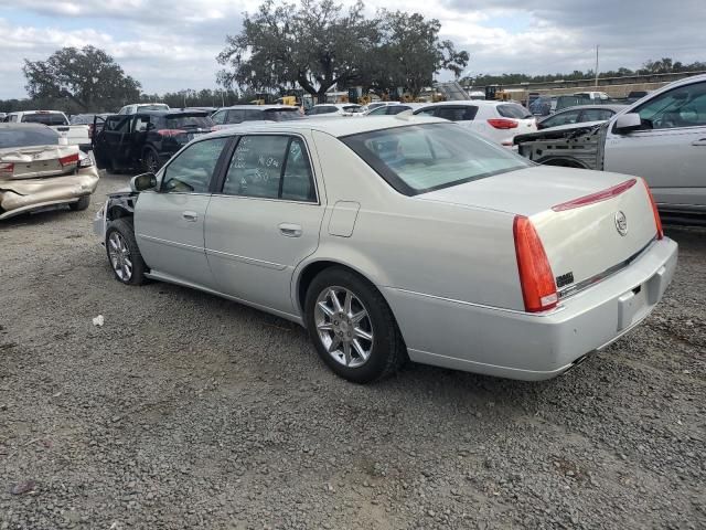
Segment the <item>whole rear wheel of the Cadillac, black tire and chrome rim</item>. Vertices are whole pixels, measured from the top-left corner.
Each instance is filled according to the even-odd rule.
[[[333,372],[354,383],[392,375],[407,360],[407,349],[385,298],[370,282],[346,268],[327,268],[311,282],[304,320],[319,357]],[[365,352],[366,357],[361,354]]]

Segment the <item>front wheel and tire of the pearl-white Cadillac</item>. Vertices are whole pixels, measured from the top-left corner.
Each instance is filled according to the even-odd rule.
[[[116,279],[126,285],[142,285],[147,265],[135,239],[130,218],[111,221],[106,230],[106,254]],[[127,262],[126,262],[127,259]]]

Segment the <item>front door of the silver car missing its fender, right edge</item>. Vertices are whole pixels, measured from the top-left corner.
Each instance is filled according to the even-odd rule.
[[[706,208],[706,82],[678,86],[634,112],[644,128],[609,130],[605,169],[644,177],[660,204]]]

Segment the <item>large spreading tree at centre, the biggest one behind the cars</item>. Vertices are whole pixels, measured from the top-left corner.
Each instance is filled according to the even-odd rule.
[[[323,100],[336,83],[361,77],[360,65],[377,39],[376,22],[365,19],[360,1],[343,11],[333,0],[266,0],[255,15],[246,14],[239,34],[226,38],[217,60],[232,71],[222,71],[218,82],[256,91],[297,83]]]

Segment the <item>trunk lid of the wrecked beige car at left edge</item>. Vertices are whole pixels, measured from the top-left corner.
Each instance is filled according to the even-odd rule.
[[[76,146],[30,146],[0,150],[0,179],[56,177],[78,168]]]

